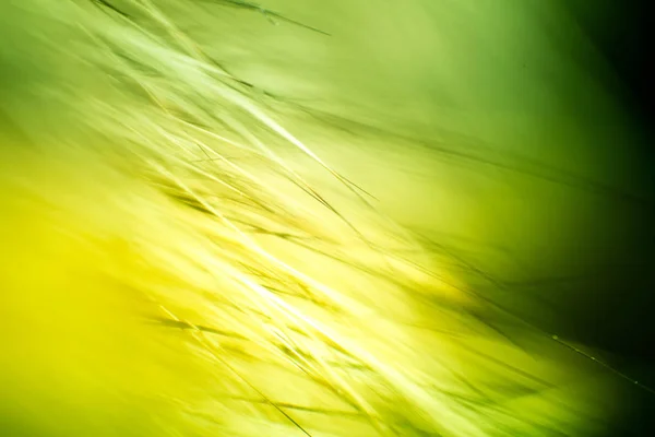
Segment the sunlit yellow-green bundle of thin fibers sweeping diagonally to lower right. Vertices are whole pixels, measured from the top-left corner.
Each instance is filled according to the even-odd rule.
[[[404,93],[391,85],[379,102],[364,91],[332,99],[340,73],[318,59],[337,59],[340,33],[356,29],[277,7],[0,5],[0,434],[602,429],[616,375],[485,293],[480,272],[413,206],[452,216],[431,187],[397,196],[425,160],[466,167],[486,156],[507,170],[513,152],[476,143],[484,123],[457,111],[441,126],[469,137],[404,125],[394,116],[404,109],[384,103]],[[333,8],[332,24],[383,15],[314,7],[308,16]],[[258,47],[265,35],[278,39]],[[420,118],[420,105],[403,114]],[[426,151],[428,138],[445,145]],[[404,208],[425,226],[404,223]]]

